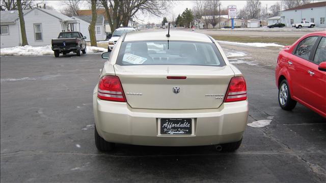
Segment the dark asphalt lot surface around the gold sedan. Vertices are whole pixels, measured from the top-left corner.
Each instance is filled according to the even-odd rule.
[[[273,121],[248,127],[236,152],[122,144],[98,152],[92,91],[103,63],[99,54],[1,57],[1,182],[326,181],[325,119],[300,104],[281,110],[274,70],[259,65],[237,65],[248,122]]]

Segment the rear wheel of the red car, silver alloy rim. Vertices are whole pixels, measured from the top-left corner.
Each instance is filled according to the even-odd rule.
[[[296,105],[296,101],[291,98],[290,88],[286,80],[283,80],[279,86],[279,104],[286,111],[294,109]]]

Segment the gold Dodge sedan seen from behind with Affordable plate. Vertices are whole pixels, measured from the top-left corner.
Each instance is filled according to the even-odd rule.
[[[248,118],[242,73],[213,38],[167,33],[127,33],[115,44],[93,92],[96,147],[238,149]]]

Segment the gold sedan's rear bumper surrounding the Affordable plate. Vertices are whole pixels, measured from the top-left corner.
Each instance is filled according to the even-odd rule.
[[[107,142],[150,146],[200,146],[237,142],[248,118],[248,101],[223,103],[219,109],[132,109],[125,102],[93,96],[95,125]],[[159,135],[159,118],[193,118],[193,135]]]

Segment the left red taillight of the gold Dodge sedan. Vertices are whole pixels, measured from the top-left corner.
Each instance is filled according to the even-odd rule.
[[[97,97],[101,100],[125,102],[125,96],[118,76],[105,75],[98,83]]]

